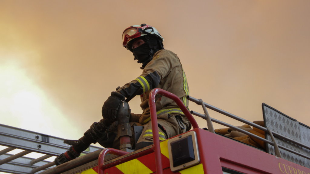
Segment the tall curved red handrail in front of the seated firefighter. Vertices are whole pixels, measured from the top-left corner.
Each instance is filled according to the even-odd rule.
[[[187,117],[189,122],[192,124],[193,128],[199,128],[196,120],[194,119],[193,115],[188,111],[188,109],[185,107],[185,105],[182,103],[180,98],[176,96],[175,94],[172,94],[168,91],[165,91],[160,88],[155,88],[151,91],[148,103],[150,106],[150,114],[151,114],[151,122],[152,122],[152,132],[153,132],[153,142],[154,142],[154,154],[155,154],[155,163],[156,163],[156,172],[157,174],[162,174],[162,156],[160,152],[160,144],[159,144],[159,134],[158,132],[158,123],[157,123],[157,114],[156,114],[156,106],[155,106],[155,96],[156,94],[160,94],[162,96],[165,96],[167,98],[172,99],[175,101],[175,103],[180,107],[181,111],[184,113],[184,115]]]

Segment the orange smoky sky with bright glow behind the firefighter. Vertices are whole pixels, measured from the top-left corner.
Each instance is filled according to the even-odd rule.
[[[250,121],[263,120],[265,102],[310,125],[309,11],[308,0],[0,0],[0,122],[80,138],[142,73],[122,32],[145,23],[178,55],[191,96]],[[141,113],[139,97],[129,104]]]

